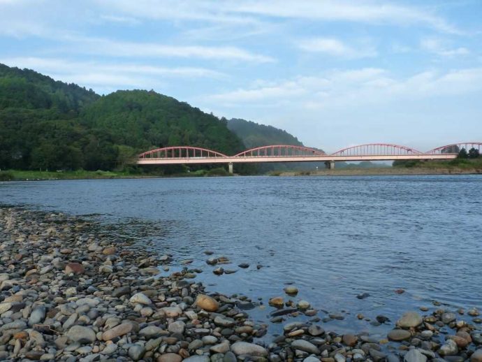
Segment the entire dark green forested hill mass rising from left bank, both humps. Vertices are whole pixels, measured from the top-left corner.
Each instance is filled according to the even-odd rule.
[[[171,145],[244,150],[226,124],[156,92],[99,96],[0,64],[0,169],[113,170]]]

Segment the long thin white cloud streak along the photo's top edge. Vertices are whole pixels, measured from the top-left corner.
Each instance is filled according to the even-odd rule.
[[[381,1],[348,0],[97,0],[98,6],[136,17],[167,20],[205,20],[246,24],[252,17],[281,17],[369,24],[422,24],[446,33],[461,31],[442,17],[415,6]]]

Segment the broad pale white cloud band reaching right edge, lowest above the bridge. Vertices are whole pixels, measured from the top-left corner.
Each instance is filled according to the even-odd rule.
[[[437,96],[459,96],[482,90],[482,68],[445,73],[425,71],[396,78],[384,69],[330,71],[315,77],[297,77],[274,85],[214,94],[211,101],[225,106],[244,103],[283,103],[291,109],[353,108],[360,104],[406,101]]]

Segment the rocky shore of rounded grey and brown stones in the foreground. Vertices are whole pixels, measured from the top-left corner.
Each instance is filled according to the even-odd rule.
[[[82,219],[0,208],[0,361],[482,362],[476,309],[422,307],[381,340],[338,335],[290,286],[269,302],[284,333],[264,342],[249,300],[207,295],[188,261],[159,277],[170,261]]]

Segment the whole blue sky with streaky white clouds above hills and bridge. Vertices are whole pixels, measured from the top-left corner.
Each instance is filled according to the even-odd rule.
[[[0,63],[327,152],[482,141],[482,0],[0,0]]]

